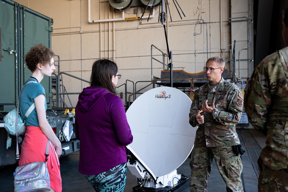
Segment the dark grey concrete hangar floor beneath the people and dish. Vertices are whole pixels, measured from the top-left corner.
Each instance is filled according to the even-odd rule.
[[[242,155],[243,172],[242,183],[246,192],[256,192],[258,183],[259,170],[257,167],[257,159],[261,149],[265,146],[266,137],[251,129],[237,129],[242,149],[246,153]],[[183,173],[185,176],[190,176],[191,169],[189,160],[177,169],[178,173]],[[88,183],[85,177],[78,172],[79,152],[69,154],[60,159],[60,169],[62,176],[63,192],[79,192],[79,191],[94,191],[93,187]],[[95,162],[96,163],[96,162]],[[13,172],[15,165],[4,166],[0,169],[0,191],[13,191]],[[132,187],[137,186],[137,179],[127,170],[127,180],[124,192],[133,192]],[[226,185],[222,180],[215,164],[212,166],[211,175],[208,178],[208,192],[223,192],[226,191]],[[189,188],[183,192],[190,192]]]

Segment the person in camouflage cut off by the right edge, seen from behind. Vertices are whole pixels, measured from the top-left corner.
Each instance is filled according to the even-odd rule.
[[[288,7],[283,11],[288,45]],[[267,136],[258,159],[258,191],[288,191],[288,47],[264,58],[245,87],[244,107],[251,125]]]

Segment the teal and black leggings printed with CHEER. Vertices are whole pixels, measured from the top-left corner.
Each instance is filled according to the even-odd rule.
[[[123,192],[126,183],[127,166],[122,163],[97,175],[85,175],[97,192]]]

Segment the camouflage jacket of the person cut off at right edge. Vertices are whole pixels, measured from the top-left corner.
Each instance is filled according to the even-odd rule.
[[[260,158],[272,170],[288,168],[288,47],[264,58],[245,87],[252,126],[267,135]]]

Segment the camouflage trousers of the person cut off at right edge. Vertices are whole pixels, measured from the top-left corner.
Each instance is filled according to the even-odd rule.
[[[262,159],[258,159],[259,179],[258,191],[262,192],[287,192],[288,169],[272,170],[265,166]]]

